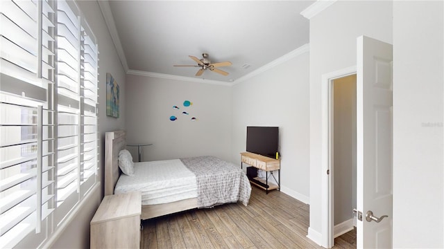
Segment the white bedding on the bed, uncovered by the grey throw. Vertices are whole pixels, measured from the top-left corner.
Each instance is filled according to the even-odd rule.
[[[196,176],[180,159],[135,163],[134,176],[121,174],[114,194],[142,192],[142,205],[197,197]]]

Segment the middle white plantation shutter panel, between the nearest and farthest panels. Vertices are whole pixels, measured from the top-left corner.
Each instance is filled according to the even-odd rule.
[[[73,6],[75,7],[75,6]],[[78,201],[80,168],[80,19],[66,1],[57,4],[57,208],[56,222]]]

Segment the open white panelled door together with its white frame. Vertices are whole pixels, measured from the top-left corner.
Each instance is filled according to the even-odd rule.
[[[321,163],[325,173],[321,175],[321,243],[325,248],[334,246],[332,82],[353,74],[357,75],[357,248],[390,248],[392,245],[392,65],[391,44],[361,36],[357,38],[357,66],[322,76]]]

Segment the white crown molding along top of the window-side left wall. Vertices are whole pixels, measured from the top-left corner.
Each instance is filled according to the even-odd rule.
[[[114,17],[112,17],[110,3],[108,1],[97,1],[99,3],[100,10],[102,12],[103,18],[105,19],[106,26],[110,32],[112,42],[116,48],[117,55],[119,55],[120,62],[125,69],[128,71],[128,63],[126,62],[125,53],[123,53],[122,44],[119,39],[119,34],[117,33],[116,24],[114,23]]]

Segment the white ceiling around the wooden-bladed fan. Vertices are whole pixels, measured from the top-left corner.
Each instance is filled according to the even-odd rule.
[[[235,82],[309,43],[314,1],[99,1],[123,66],[129,73]],[[196,64],[208,53],[228,76]],[[244,65],[250,65],[244,68]]]

